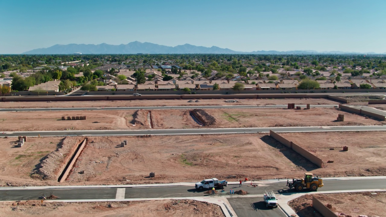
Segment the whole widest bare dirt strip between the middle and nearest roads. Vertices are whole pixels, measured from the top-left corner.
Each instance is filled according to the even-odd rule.
[[[322,177],[386,175],[384,132],[281,135],[324,162],[334,160],[334,163],[317,168],[266,134],[89,137],[67,180],[59,183],[56,172],[63,168],[64,163],[56,158],[54,162],[57,163],[46,164],[45,169],[55,176],[45,175],[42,180],[30,174],[35,166],[40,165],[41,158],[56,150],[61,138],[31,138],[22,148],[13,148],[15,139],[10,138],[0,140],[0,185],[171,183],[230,175],[237,177],[229,181],[245,177],[257,180],[300,178],[307,171]],[[123,140],[128,140],[128,145],[120,147]],[[77,141],[72,142],[73,146],[78,144]],[[340,151],[343,146],[348,146],[349,151]],[[331,147],[334,150],[330,150]],[[61,150],[59,152],[65,155],[64,149]],[[267,164],[267,159],[275,163]],[[80,174],[80,171],[85,172]],[[150,178],[150,172],[155,172],[156,176]]]

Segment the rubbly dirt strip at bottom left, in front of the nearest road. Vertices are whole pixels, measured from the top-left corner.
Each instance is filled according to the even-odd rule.
[[[1,202],[0,216],[7,217],[143,217],[143,216],[208,216],[223,217],[222,210],[212,203],[195,200],[154,200],[130,202],[90,203],[41,203],[38,200],[26,202]]]

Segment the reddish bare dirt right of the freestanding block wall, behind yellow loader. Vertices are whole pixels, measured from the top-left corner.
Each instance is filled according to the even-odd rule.
[[[386,175],[384,132],[281,133],[325,163],[313,173],[322,177]],[[342,151],[347,146],[349,151]],[[334,148],[334,150],[330,150]]]

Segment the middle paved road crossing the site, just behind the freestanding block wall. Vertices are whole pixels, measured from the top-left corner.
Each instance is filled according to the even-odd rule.
[[[186,134],[237,134],[274,132],[333,132],[333,131],[386,131],[386,125],[374,126],[322,126],[322,127],[254,127],[254,128],[198,128],[133,131],[24,131],[3,132],[4,136],[141,136]]]

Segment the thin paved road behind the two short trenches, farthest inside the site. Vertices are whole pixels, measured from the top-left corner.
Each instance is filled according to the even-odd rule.
[[[0,108],[0,112],[83,111],[83,110],[157,110],[157,109],[215,109],[215,108],[287,108],[288,105],[208,105],[208,106],[144,106],[144,107],[95,107],[95,108]],[[306,105],[296,105],[305,108]],[[338,105],[310,105],[312,108],[334,108]]]

